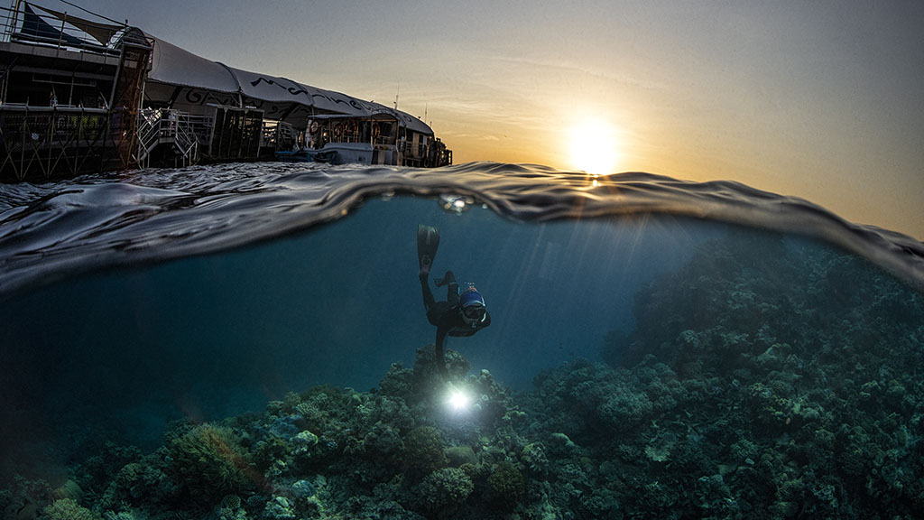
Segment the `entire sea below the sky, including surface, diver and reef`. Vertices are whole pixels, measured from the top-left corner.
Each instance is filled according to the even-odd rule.
[[[0,187],[0,517],[919,518],[924,244],[734,182]]]

